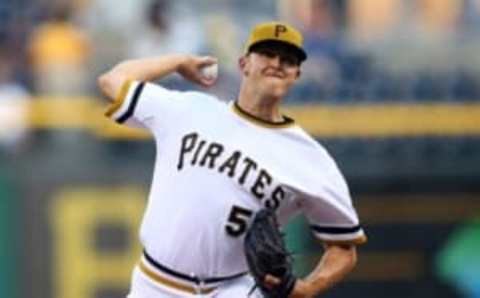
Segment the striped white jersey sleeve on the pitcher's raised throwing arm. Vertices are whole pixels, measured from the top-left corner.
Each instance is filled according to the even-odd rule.
[[[119,124],[146,128],[152,132],[165,129],[182,114],[185,93],[168,90],[159,85],[127,81],[119,96],[108,107],[105,115]]]

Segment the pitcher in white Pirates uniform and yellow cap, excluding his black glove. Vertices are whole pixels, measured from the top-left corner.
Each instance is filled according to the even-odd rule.
[[[107,115],[148,129],[157,148],[130,298],[267,296],[251,291],[244,252],[261,210],[280,225],[303,213],[325,245],[315,270],[294,279],[288,297],[321,294],[354,268],[356,245],[366,237],[347,184],[325,148],[279,109],[307,58],[302,42],[288,24],[255,26],[238,61],[240,92],[229,103],[151,83],[177,72],[210,87],[212,57],[129,60],[99,78],[112,100]],[[274,274],[261,279],[263,289],[281,282]]]

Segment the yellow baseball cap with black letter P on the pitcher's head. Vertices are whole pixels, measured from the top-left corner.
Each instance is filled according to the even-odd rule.
[[[307,59],[303,49],[302,34],[289,24],[282,22],[267,22],[256,25],[245,45],[245,52],[250,52],[253,46],[263,42],[280,42],[292,47],[300,62]]]

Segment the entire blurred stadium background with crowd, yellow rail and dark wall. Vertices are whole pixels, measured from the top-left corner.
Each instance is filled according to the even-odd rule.
[[[337,159],[369,235],[322,297],[480,297],[479,0],[0,0],[0,297],[124,296],[154,147],[103,118],[96,77],[208,53],[231,100],[271,19],[310,55],[286,113]],[[288,230],[305,274],[321,246],[301,218]]]

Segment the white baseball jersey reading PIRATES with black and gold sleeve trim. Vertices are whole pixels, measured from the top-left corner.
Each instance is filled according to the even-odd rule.
[[[155,138],[140,238],[169,268],[204,277],[247,271],[243,235],[264,207],[282,223],[304,213],[322,241],[366,239],[335,162],[289,118],[270,123],[235,102],[135,81],[107,114]]]

